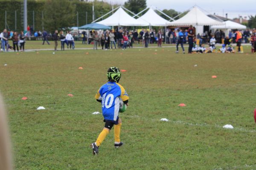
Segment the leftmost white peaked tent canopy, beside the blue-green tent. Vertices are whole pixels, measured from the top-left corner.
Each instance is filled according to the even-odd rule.
[[[138,21],[127,14],[122,7],[105,20],[97,22],[105,26],[149,26],[146,21]]]

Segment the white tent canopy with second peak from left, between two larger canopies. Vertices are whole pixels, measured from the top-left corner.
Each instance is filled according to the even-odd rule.
[[[170,22],[162,17],[160,17],[152,8],[141,17],[137,19],[140,23],[148,22],[150,26],[166,26]]]

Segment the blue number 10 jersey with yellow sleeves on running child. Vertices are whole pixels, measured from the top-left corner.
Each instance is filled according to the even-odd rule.
[[[107,82],[97,91],[96,99],[102,100],[102,114],[105,120],[116,122],[120,100],[128,100],[129,96],[125,89],[117,82]]]

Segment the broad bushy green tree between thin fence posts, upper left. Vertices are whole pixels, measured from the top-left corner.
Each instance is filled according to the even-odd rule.
[[[74,26],[75,6],[70,0],[46,0],[44,6],[44,28],[54,32]]]

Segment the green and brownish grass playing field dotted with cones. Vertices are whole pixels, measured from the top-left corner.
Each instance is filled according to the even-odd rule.
[[[16,170],[255,170],[256,55],[155,49],[0,53]],[[113,148],[111,131],[93,156],[104,126],[94,95],[113,65],[127,70],[125,145]]]

